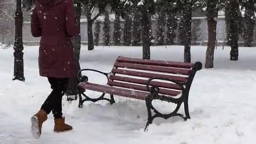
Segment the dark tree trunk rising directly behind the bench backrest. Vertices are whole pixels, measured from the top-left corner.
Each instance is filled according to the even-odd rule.
[[[141,26],[142,26],[142,49],[143,59],[150,59],[150,40],[149,40],[149,15],[146,9],[141,11]]]

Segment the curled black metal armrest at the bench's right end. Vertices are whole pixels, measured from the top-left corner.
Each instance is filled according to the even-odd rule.
[[[153,78],[149,78],[149,80],[147,80],[147,83],[146,83],[146,86],[147,86],[147,90],[151,93],[151,94],[158,94],[159,93],[159,87],[156,87],[156,86],[152,86],[151,88],[149,88],[149,83],[152,81],[152,80],[165,80],[165,81],[170,81],[172,83],[176,83],[177,85],[179,85],[181,87],[181,90],[182,92],[185,91],[185,88],[184,88],[184,84],[183,83],[179,83],[175,80],[171,80],[171,79],[168,79],[168,78],[163,78],[163,77],[153,77]]]

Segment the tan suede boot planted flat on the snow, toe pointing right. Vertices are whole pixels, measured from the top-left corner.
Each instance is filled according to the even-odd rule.
[[[73,129],[72,126],[65,123],[65,117],[54,118],[54,123],[53,131],[55,132],[70,131]]]

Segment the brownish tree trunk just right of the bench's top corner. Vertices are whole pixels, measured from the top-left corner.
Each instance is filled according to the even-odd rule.
[[[216,0],[208,0],[207,3],[207,25],[208,25],[208,45],[206,50],[205,68],[213,68],[214,49],[216,46],[216,28],[218,9],[216,8]]]

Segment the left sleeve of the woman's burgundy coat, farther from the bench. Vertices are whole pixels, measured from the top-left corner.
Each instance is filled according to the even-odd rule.
[[[41,37],[41,24],[38,19],[35,8],[31,10],[31,33],[33,37]]]

